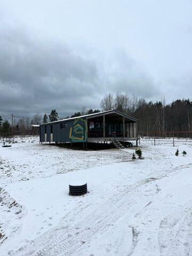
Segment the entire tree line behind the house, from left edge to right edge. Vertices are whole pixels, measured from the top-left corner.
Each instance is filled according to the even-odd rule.
[[[60,119],[78,117],[116,109],[124,114],[138,119],[138,129],[140,132],[171,132],[171,131],[191,131],[192,129],[192,101],[189,99],[179,99],[172,103],[161,101],[147,101],[145,98],[131,97],[124,93],[106,94],[100,102],[100,109],[90,109],[83,107],[80,111],[71,116],[59,117],[57,110],[52,109],[50,114],[39,114],[32,118],[23,117],[18,121],[13,121],[12,127],[6,119],[3,121],[0,116],[0,133],[8,136],[12,131],[19,131],[20,134],[27,134],[31,130],[31,124],[44,124]]]

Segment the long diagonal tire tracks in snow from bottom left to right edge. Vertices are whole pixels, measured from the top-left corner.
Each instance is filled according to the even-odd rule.
[[[189,165],[182,166],[187,168]],[[181,167],[175,167],[169,171],[175,172],[180,171]],[[25,246],[21,247],[15,253],[12,253],[13,256],[58,256],[58,255],[73,255],[77,250],[79,250],[85,242],[89,242],[99,230],[107,229],[111,223],[116,222],[119,218],[122,217],[125,213],[125,206],[131,206],[132,201],[127,199],[127,193],[134,193],[136,189],[145,185],[148,182],[153,182],[157,179],[162,179],[166,175],[162,175],[158,178],[148,178],[141,180],[134,185],[127,186],[124,192],[118,191],[116,195],[108,198],[105,202],[100,203],[100,205],[94,209],[91,213],[86,214],[86,209],[79,213],[79,218],[81,221],[76,221],[73,223],[73,226],[68,227],[66,217],[75,218],[77,212],[73,209],[65,218],[61,220],[58,226],[47,231],[43,235],[33,239],[28,242]],[[119,198],[121,198],[119,200]],[[130,198],[130,195],[129,195]],[[105,207],[103,207],[105,205]],[[76,207],[78,209],[78,207]],[[132,229],[133,234],[133,249],[131,249],[131,255],[134,247],[137,246],[137,229]]]

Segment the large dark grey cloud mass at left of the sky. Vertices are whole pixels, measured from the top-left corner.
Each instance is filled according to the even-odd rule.
[[[73,54],[65,44],[34,42],[25,34],[17,40],[12,32],[0,34],[1,111],[28,114],[60,105],[67,112],[69,101],[93,93],[93,61]]]

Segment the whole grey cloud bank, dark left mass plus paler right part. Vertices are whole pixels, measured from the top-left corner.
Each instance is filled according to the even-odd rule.
[[[117,91],[153,97],[151,78],[124,51],[92,58],[62,42],[31,38],[25,30],[0,29],[1,114],[30,116],[52,108],[65,116],[83,106],[99,108]],[[102,59],[102,60],[101,60]]]

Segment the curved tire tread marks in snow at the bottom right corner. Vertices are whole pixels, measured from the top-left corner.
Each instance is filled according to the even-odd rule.
[[[192,200],[161,221],[158,244],[161,256],[192,255]]]

